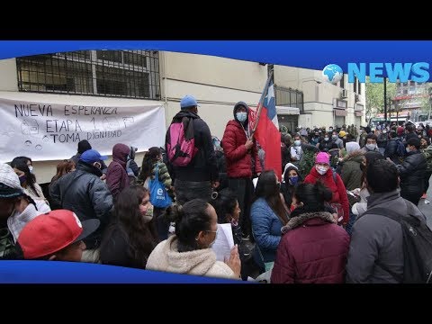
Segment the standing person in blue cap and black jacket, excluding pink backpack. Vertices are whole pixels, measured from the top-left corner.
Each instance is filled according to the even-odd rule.
[[[174,171],[176,201],[180,204],[195,198],[211,200],[211,187],[219,186],[219,172],[211,140],[211,132],[205,121],[198,116],[198,103],[192,95],[185,95],[180,102],[178,112],[171,124],[181,122],[184,117],[193,121],[194,146],[198,149],[187,166],[173,166],[168,162],[168,169]],[[166,131],[165,148],[170,142],[170,129]]]

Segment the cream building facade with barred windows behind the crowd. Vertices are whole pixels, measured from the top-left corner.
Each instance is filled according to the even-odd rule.
[[[364,85],[347,84],[347,76],[330,85],[322,80],[321,71],[271,67],[278,120],[287,130],[364,124]],[[106,106],[154,103],[165,110],[166,126],[179,111],[184,94],[193,94],[200,104],[199,115],[211,133],[221,138],[233,118],[235,103],[257,107],[268,70],[262,63],[194,54],[85,50],[0,60],[0,92],[24,102],[43,97],[53,103],[61,98],[63,102]],[[165,138],[166,129],[157,131],[157,136]],[[142,156],[137,155],[137,163]],[[34,162],[40,184],[50,181],[57,163]]]

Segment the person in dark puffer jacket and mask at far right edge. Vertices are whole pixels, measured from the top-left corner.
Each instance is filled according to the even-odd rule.
[[[419,151],[420,140],[407,141],[407,156],[398,167],[401,175],[401,196],[416,206],[425,189],[425,172],[428,166],[426,157]]]

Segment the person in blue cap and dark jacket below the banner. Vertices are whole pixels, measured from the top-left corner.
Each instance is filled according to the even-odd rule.
[[[83,253],[84,262],[97,262],[97,247],[102,232],[110,221],[112,194],[100,179],[100,160],[105,160],[98,151],[86,150],[80,157],[76,170],[63,175],[49,186],[51,198],[63,209],[74,211],[79,220],[98,219],[99,228],[84,239],[87,250]]]

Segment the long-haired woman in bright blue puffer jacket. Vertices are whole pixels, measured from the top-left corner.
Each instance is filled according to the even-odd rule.
[[[252,234],[257,244],[255,254],[262,270],[275,261],[276,249],[281,240],[281,228],[288,222],[288,212],[280,193],[281,184],[273,170],[266,170],[258,177],[250,217]]]

